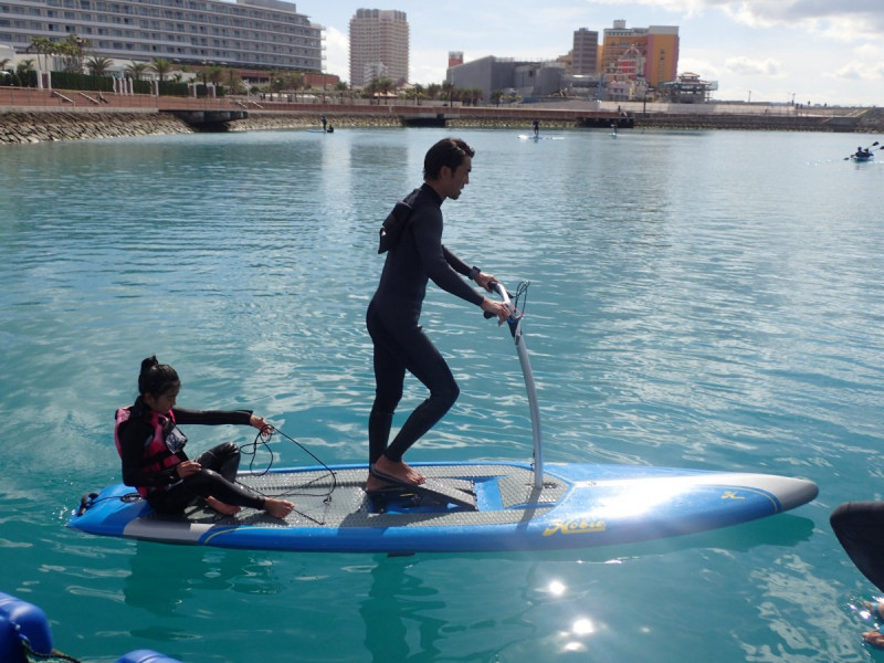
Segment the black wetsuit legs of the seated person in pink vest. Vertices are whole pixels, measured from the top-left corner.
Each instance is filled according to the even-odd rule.
[[[239,448],[227,442],[207,451],[197,459],[202,469],[168,491],[155,491],[148,497],[150,505],[161,513],[179,513],[199,497],[214,497],[224,504],[263,508],[264,498],[233,483],[240,464]]]

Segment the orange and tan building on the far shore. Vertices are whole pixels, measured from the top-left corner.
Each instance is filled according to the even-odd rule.
[[[603,31],[601,72],[609,86],[643,78],[646,85],[659,87],[674,81],[677,71],[677,27],[627,28],[625,21],[618,20]]]

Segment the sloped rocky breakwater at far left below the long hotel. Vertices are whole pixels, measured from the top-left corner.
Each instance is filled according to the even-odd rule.
[[[0,145],[52,140],[92,140],[122,136],[192,134],[177,117],[157,112],[39,112],[0,113]]]

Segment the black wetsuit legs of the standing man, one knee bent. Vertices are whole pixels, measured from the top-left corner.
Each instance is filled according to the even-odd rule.
[[[366,323],[375,344],[377,383],[368,420],[369,462],[376,462],[381,455],[399,462],[409,448],[451,409],[460,389],[442,355],[419,325],[389,327],[373,303],[368,307]],[[407,370],[430,390],[430,396],[409,415],[388,448],[393,411],[402,398]]]

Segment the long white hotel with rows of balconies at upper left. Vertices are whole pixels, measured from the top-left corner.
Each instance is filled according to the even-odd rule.
[[[120,61],[323,71],[323,27],[283,0],[0,0],[0,43],[76,34]]]

